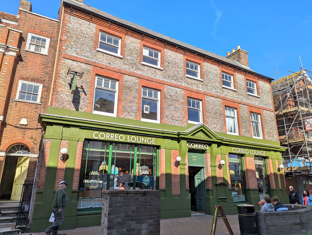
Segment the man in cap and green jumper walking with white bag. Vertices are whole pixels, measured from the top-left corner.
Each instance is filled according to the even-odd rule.
[[[52,210],[54,213],[54,223],[46,229],[46,234],[57,234],[57,230],[64,220],[64,208],[68,202],[64,189],[68,185],[65,181],[60,182],[60,188],[58,188],[54,194]]]

